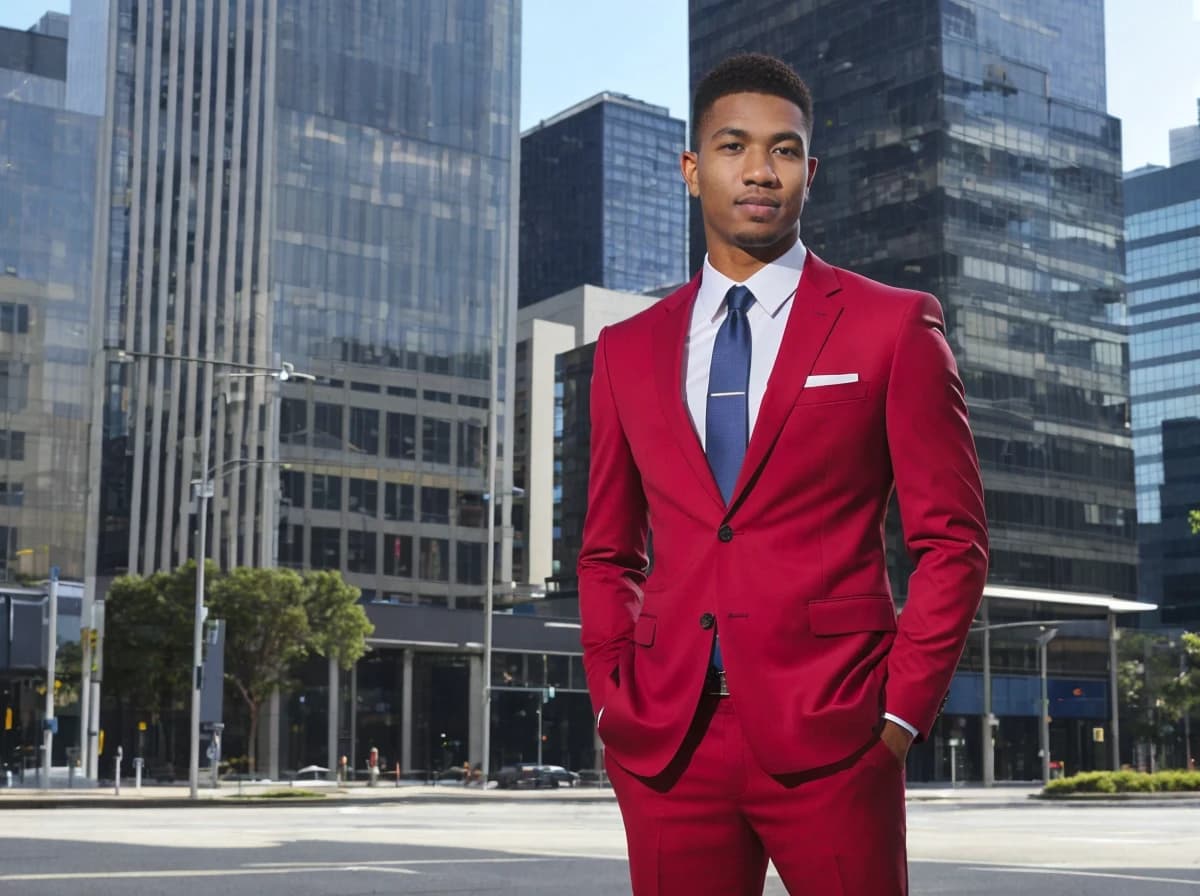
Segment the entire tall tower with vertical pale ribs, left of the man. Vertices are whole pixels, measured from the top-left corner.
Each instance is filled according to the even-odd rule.
[[[479,762],[493,415],[511,581],[512,420],[491,395],[514,379],[518,2],[85,6],[67,104],[104,114],[97,593],[196,554],[210,479],[222,567],[336,569],[362,591],[374,649],[358,700],[340,686],[337,752]],[[316,381],[239,375],[283,362]],[[576,632],[496,631],[496,668],[562,655],[539,694],[582,682]],[[263,726],[292,732],[283,765],[334,762],[326,680],[306,672],[290,721]]]

